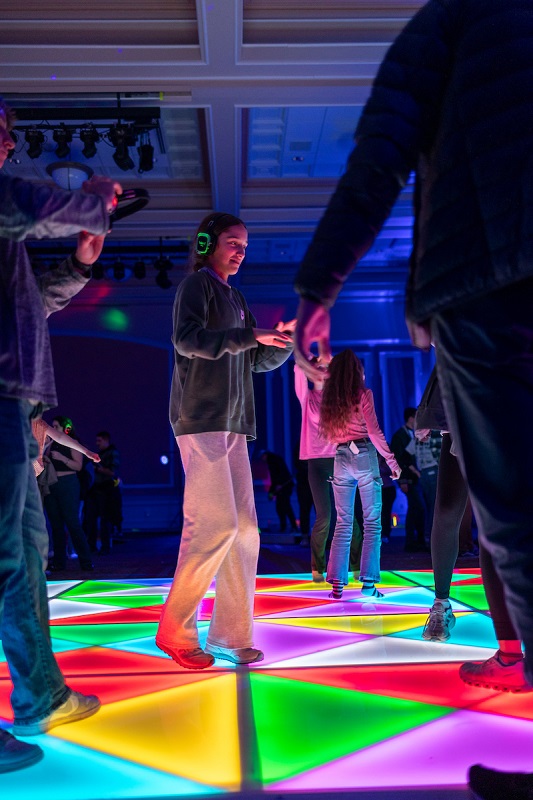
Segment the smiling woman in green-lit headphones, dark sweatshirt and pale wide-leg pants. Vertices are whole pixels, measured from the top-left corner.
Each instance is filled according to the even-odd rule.
[[[156,644],[186,669],[206,669],[215,656],[236,664],[263,659],[253,647],[259,528],[247,446],[255,439],[252,371],[289,357],[295,321],[258,328],[230,286],[247,244],[242,220],[209,214],[194,239],[194,271],[174,302],[170,422],[185,471],[184,522]],[[196,615],[215,576],[204,651]]]

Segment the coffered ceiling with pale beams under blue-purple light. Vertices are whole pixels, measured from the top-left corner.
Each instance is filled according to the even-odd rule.
[[[182,259],[205,214],[232,212],[249,228],[250,281],[260,283],[268,268],[267,292],[289,286],[342,174],[377,67],[421,5],[0,0],[0,91],[22,127],[50,126],[34,159],[20,131],[4,169],[49,179],[59,123],[111,126],[131,108],[157,109],[148,171],[139,172],[136,146],[129,151],[134,168],[122,171],[105,134],[96,155],[85,158],[74,131],[68,160],[150,193],[143,211],[117,224],[109,246],[148,252],[163,244]],[[411,222],[408,188],[365,259],[375,280],[404,262]]]

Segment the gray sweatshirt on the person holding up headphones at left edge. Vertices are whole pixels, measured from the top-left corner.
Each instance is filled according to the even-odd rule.
[[[108,220],[97,195],[0,175],[0,396],[57,405],[46,318],[90,277],[90,269],[68,258],[36,278],[22,240],[106,233]]]

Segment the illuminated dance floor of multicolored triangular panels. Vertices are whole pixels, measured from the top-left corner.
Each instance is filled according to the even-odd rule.
[[[533,693],[466,686],[497,648],[479,570],[454,575],[446,643],[424,642],[430,571],[383,572],[384,597],[342,601],[309,574],[259,576],[265,660],[181,669],[154,636],[170,580],[49,583],[52,642],[95,716],[33,737],[45,758],[1,777],[2,798],[467,797],[469,765],[531,770]],[[213,605],[206,595],[202,637]],[[202,639],[203,641],[203,639]],[[0,648],[0,724],[11,721]]]

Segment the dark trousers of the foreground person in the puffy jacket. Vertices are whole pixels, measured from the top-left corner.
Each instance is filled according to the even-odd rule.
[[[437,314],[446,418],[533,683],[533,278]]]

